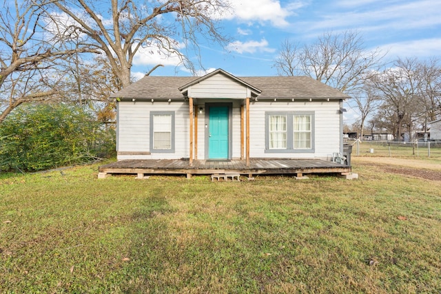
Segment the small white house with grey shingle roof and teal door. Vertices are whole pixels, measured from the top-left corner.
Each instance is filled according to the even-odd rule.
[[[331,160],[349,96],[306,76],[145,76],[112,94],[124,159]]]

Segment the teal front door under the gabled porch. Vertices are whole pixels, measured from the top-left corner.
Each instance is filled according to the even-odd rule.
[[[228,107],[209,107],[209,159],[228,159]]]

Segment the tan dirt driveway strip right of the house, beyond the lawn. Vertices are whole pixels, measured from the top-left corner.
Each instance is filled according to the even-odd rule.
[[[424,162],[407,158],[356,158],[356,165],[376,166],[384,172],[424,178],[426,180],[441,180],[441,164]]]

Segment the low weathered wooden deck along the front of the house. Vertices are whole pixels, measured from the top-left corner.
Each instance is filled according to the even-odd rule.
[[[305,174],[340,174],[351,173],[351,167],[336,162],[317,159],[250,159],[249,167],[245,160],[120,160],[99,167],[99,178],[111,174],[137,174],[138,178],[154,174],[240,174],[251,178],[253,175],[292,174],[302,177]]]

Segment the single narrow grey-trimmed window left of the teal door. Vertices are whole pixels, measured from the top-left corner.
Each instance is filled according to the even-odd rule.
[[[150,112],[150,151],[174,152],[174,112]]]

